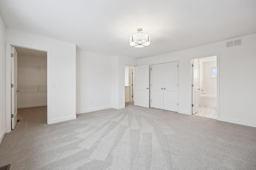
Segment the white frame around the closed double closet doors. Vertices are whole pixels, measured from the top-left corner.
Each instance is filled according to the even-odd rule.
[[[180,113],[180,59],[173,59],[173,60],[168,60],[168,61],[160,61],[160,62],[156,62],[154,64],[150,64],[149,65],[149,68],[150,68],[150,93],[149,93],[149,107],[151,107],[151,75],[152,75],[152,65],[155,65],[155,64],[164,64],[164,63],[171,63],[171,62],[175,62],[175,61],[178,61],[178,113]]]

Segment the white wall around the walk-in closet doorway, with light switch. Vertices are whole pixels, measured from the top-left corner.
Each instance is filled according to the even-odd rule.
[[[50,50],[50,118],[56,123],[76,118],[76,45],[6,28],[6,41]],[[49,85],[49,84],[48,84]]]

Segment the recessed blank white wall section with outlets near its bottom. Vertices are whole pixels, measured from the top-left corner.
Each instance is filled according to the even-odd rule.
[[[76,50],[76,114],[111,107],[112,57]]]

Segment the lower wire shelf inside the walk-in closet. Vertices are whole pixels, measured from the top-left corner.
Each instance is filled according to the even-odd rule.
[[[35,85],[35,86],[18,86],[17,90],[20,90],[20,93],[46,93],[47,86],[45,85]]]

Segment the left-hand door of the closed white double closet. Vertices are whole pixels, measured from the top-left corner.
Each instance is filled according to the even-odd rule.
[[[164,109],[164,64],[154,64],[151,66],[151,105],[150,107]]]

